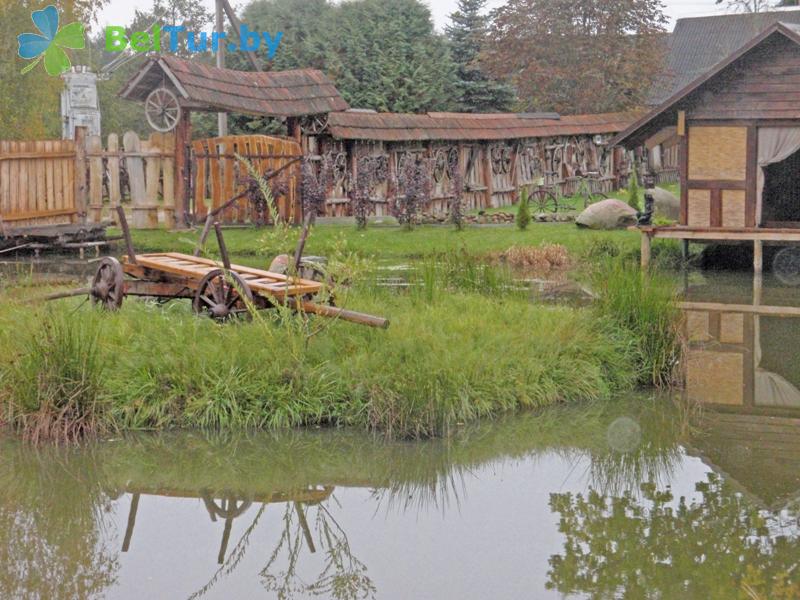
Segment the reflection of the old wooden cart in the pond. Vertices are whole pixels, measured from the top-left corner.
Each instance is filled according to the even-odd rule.
[[[131,546],[131,539],[133,537],[133,530],[136,526],[136,515],[139,510],[139,502],[142,496],[145,497],[159,497],[159,498],[188,498],[188,499],[201,499],[208,511],[208,516],[212,521],[216,522],[217,519],[224,519],[225,528],[222,532],[222,540],[220,542],[219,554],[217,555],[217,562],[222,564],[225,561],[225,553],[230,541],[231,529],[233,521],[237,517],[241,517],[252,506],[254,502],[262,505],[292,502],[294,510],[297,513],[300,527],[303,529],[303,536],[308,544],[311,552],[316,552],[314,541],[311,536],[311,530],[308,527],[304,506],[313,506],[320,502],[327,500],[333,493],[335,488],[333,486],[319,486],[308,489],[293,490],[288,492],[269,492],[260,494],[258,496],[242,497],[241,494],[231,493],[214,493],[210,491],[200,490],[165,490],[165,489],[149,489],[146,486],[129,486],[125,492],[131,494],[131,505],[128,511],[128,523],[125,528],[125,537],[122,542],[122,551],[127,552]]]

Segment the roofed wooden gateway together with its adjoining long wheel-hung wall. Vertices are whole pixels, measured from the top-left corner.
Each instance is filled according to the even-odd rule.
[[[469,210],[512,204],[523,186],[543,185],[569,195],[585,176],[592,191],[608,192],[624,185],[631,172],[632,153],[608,142],[633,122],[634,113],[376,113],[350,109],[332,82],[313,69],[242,72],[174,56],[147,61],[120,96],[147,104],[160,89],[167,90],[180,107],[175,128],[179,216],[202,215],[205,206],[225,202],[225,194],[216,193],[206,201],[207,190],[221,189],[214,185],[214,176],[236,180],[227,172],[233,169],[226,171],[225,166],[233,161],[230,147],[236,144],[235,136],[191,144],[188,115],[194,111],[235,112],[281,122],[284,139],[299,144],[297,152],[316,162],[318,171],[329,170],[320,207],[328,216],[353,214],[358,162],[364,156],[379,165],[380,176],[368,190],[368,212],[374,215],[389,214],[402,196],[398,172],[409,157],[426,159],[431,194],[421,209],[431,213],[448,209],[455,179],[463,184],[462,203]],[[199,154],[198,147],[203,148]],[[281,153],[291,152],[284,148]],[[204,166],[198,157],[217,157],[221,164]]]

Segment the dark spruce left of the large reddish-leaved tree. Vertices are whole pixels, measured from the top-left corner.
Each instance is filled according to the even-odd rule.
[[[456,64],[459,108],[466,112],[502,112],[511,109],[514,90],[489,77],[479,63],[489,18],[482,14],[486,0],[459,0],[445,33]]]

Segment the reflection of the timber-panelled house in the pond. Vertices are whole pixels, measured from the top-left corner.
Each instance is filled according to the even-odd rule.
[[[684,303],[685,394],[703,411],[697,453],[773,511],[800,501],[800,311]]]

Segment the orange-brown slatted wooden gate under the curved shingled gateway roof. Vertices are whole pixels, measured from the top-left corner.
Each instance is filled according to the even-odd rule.
[[[270,181],[278,214],[282,220],[301,223],[300,144],[266,135],[230,135],[192,142],[191,198],[195,221],[205,219],[209,210],[224,205],[246,187],[250,173],[239,157],[247,159],[262,175],[280,170]],[[255,207],[243,200],[224,210],[220,221],[253,223],[260,216]],[[269,211],[263,217],[269,222]]]

